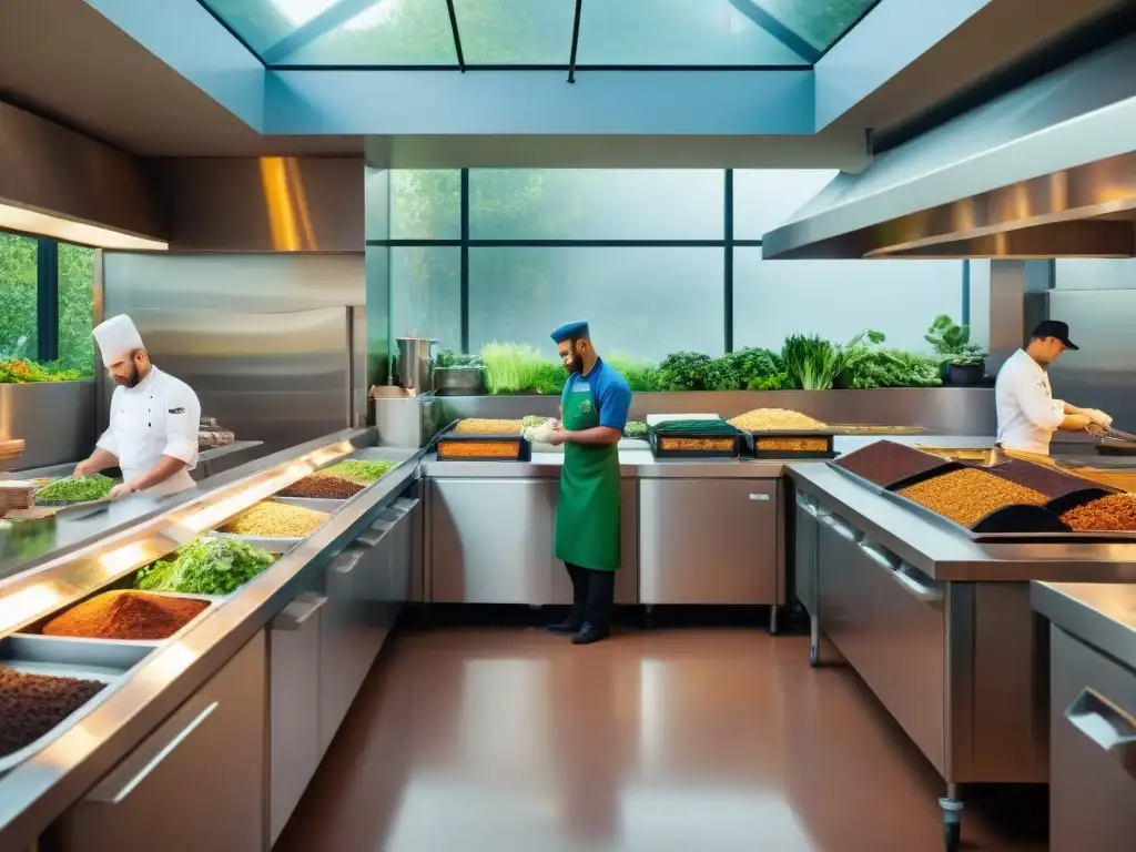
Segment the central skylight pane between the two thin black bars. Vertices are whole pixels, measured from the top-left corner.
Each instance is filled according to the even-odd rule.
[[[568,64],[573,0],[453,0],[453,8],[469,65]]]

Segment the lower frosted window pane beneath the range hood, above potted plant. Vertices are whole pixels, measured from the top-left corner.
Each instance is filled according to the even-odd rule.
[[[844,342],[869,328],[926,350],[938,314],[959,320],[961,260],[762,260],[734,253],[734,345],[780,348],[790,334]]]

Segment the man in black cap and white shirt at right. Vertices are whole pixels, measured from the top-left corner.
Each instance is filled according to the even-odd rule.
[[[1112,425],[1103,411],[1053,399],[1046,370],[1067,349],[1078,349],[1069,340],[1069,326],[1046,319],[1034,329],[1027,346],[1010,356],[999,370],[994,390],[997,443],[1008,453],[1049,457],[1054,432]]]

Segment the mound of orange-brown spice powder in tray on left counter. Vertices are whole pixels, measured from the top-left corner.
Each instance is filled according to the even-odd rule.
[[[43,625],[48,636],[107,640],[169,638],[209,605],[192,598],[118,590],[83,601]]]

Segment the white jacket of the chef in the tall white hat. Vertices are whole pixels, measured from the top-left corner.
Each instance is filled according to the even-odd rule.
[[[134,387],[122,385],[110,398],[110,427],[98,446],[118,457],[123,481],[148,474],[162,456],[185,462],[185,470],[147,488],[161,496],[193,486],[190,470],[198,463],[198,427],[201,403],[187,384],[150,367]]]

